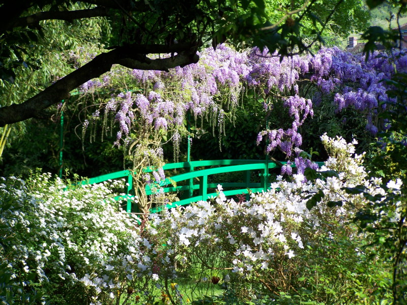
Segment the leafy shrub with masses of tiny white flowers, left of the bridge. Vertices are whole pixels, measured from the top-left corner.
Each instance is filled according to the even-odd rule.
[[[108,304],[129,287],[144,290],[151,246],[114,201],[110,189],[118,182],[67,187],[50,174],[27,184],[1,179],[0,255],[14,301],[34,290],[52,303]]]

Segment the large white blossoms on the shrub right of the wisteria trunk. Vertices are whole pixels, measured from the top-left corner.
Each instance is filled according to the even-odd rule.
[[[163,262],[180,258],[185,262],[193,249],[190,255],[203,253],[202,261],[206,254],[216,253],[238,278],[263,277],[276,268],[276,262],[289,261],[305,245],[312,246],[318,232],[329,231],[329,224],[349,222],[355,210],[368,202],[362,194],[348,194],[344,188],[364,186],[372,196],[386,196],[381,178],[368,177],[362,165],[364,154],[355,154],[355,140],[346,143],[326,134],[321,139],[330,157],[318,171],[335,171],[338,176],[314,181],[307,181],[303,174],[290,180],[278,176],[267,192],[252,194],[242,203],[227,200],[219,185],[213,204],[200,201],[172,209],[159,221],[168,237],[163,240]],[[397,190],[400,184],[399,180],[390,181],[387,187]],[[319,191],[323,198],[308,210],[307,201]],[[330,201],[342,204],[328,207]],[[352,234],[348,237],[353,238]]]

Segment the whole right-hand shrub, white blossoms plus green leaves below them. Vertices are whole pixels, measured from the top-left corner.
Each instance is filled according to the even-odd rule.
[[[377,254],[363,248],[368,236],[351,222],[368,200],[345,191],[364,185],[371,196],[385,195],[381,179],[367,176],[363,155],[355,155],[356,142],[326,135],[322,141],[330,158],[314,181],[303,174],[291,181],[279,176],[268,192],[241,203],[227,200],[218,186],[213,204],[200,201],[155,219],[159,244],[166,245],[157,249],[157,264],[165,270],[160,279],[182,269],[199,268],[200,274],[220,270],[230,286],[243,289],[243,283],[250,283],[252,296],[295,295],[299,299],[293,303],[339,303],[343,298],[354,303],[382,293],[389,285],[387,266],[369,261],[369,255],[377,259]],[[321,200],[309,206],[318,193]],[[373,285],[372,278],[382,279],[384,286]]]

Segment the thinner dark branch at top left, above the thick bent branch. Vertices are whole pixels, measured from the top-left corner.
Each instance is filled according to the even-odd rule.
[[[76,10],[65,12],[39,12],[30,16],[18,18],[14,23],[10,24],[7,29],[17,26],[27,26],[38,24],[42,20],[66,20],[72,21],[74,19],[103,17],[107,16],[107,10],[104,7],[96,7],[88,10]]]

